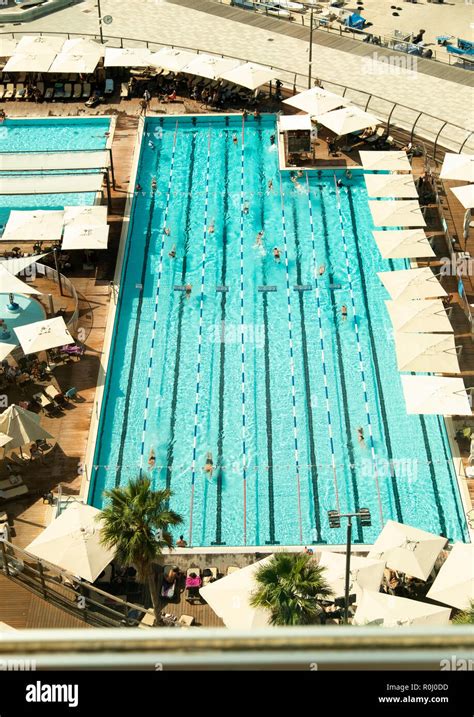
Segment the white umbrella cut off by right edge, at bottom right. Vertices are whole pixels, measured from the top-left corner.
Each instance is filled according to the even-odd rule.
[[[467,610],[474,600],[474,546],[455,543],[426,597]]]

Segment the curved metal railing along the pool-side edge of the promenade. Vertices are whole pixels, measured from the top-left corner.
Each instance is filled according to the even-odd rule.
[[[78,33],[78,32],[15,32],[15,31],[2,31],[2,35],[9,35],[12,38],[23,35],[59,35],[71,39],[73,37],[89,37],[95,40],[99,39],[97,33]],[[137,46],[147,47],[150,50],[158,50],[162,47],[171,47],[172,49],[188,50],[196,52],[197,54],[205,53],[206,55],[214,55],[215,57],[229,58],[240,60],[241,62],[250,62],[249,58],[239,57],[238,55],[229,55],[223,53],[209,52],[208,50],[201,50],[195,47],[189,47],[185,45],[174,45],[169,43],[156,42],[153,40],[141,40],[133,37],[123,37],[114,35],[104,35],[104,42],[109,47],[124,47],[126,46]],[[133,45],[131,44],[133,43]],[[280,79],[286,88],[292,92],[302,91],[307,89],[307,75],[301,72],[295,72],[288,68],[278,67],[276,65],[268,65],[270,69],[275,70],[275,78]],[[432,155],[436,160],[436,152],[439,146],[446,148],[449,151],[461,152],[467,151],[468,153],[474,154],[474,130],[458,125],[449,120],[437,117],[436,115],[429,114],[424,111],[420,111],[408,105],[404,105],[400,102],[394,102],[393,100],[387,100],[380,95],[376,95],[365,90],[356,89],[349,85],[344,85],[333,80],[326,80],[319,78],[326,89],[333,90],[344,97],[349,99],[352,104],[364,109],[365,111],[372,111],[377,117],[382,119],[387,124],[387,129],[391,127],[398,127],[401,130],[408,132],[411,139],[416,135],[433,144]],[[431,148],[428,148],[428,152]]]

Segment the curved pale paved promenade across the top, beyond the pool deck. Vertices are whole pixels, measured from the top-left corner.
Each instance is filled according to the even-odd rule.
[[[201,0],[200,7],[209,9],[209,4],[215,5],[208,0]],[[292,72],[307,73],[308,44],[298,38],[163,0],[102,0],[101,5],[103,15],[110,14],[113,17],[113,22],[104,26],[110,35],[185,45],[272,66],[284,65],[289,70],[288,80]],[[47,18],[25,24],[22,29],[97,32],[95,7],[93,0],[86,0]],[[226,6],[222,8],[228,9]],[[233,12],[237,11],[233,9]],[[247,15],[246,11],[240,12]],[[18,27],[12,29],[19,30]],[[372,56],[360,57],[351,52],[318,45],[314,52],[313,75],[327,82],[347,84],[365,92],[383,95],[387,100],[400,102],[466,128],[470,126],[473,104],[470,87],[428,76],[418,72],[416,66],[407,69],[389,67],[379,62],[379,59],[377,48],[374,48]],[[406,56],[406,59],[412,58]],[[363,102],[361,96],[354,96],[354,100],[357,99]],[[387,104],[383,102],[375,102],[371,108],[374,112],[387,113]],[[393,120],[407,125],[410,120],[416,119],[416,115],[416,112],[397,110]],[[418,129],[427,138],[433,138],[440,126],[440,123],[425,121],[418,125]],[[453,148],[456,142],[459,142],[459,147],[464,136],[465,133],[459,133],[458,137],[453,138]]]

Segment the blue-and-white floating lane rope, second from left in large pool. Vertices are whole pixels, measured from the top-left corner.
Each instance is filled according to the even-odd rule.
[[[201,294],[199,299],[199,334],[198,334],[198,355],[196,367],[196,398],[194,403],[194,429],[193,429],[193,459],[191,463],[191,502],[189,508],[189,540],[188,545],[193,544],[193,508],[194,508],[194,490],[196,482],[196,452],[197,452],[197,429],[199,418],[199,402],[201,398],[201,359],[202,359],[202,329],[203,329],[203,312],[204,312],[204,279],[206,277],[206,253],[207,253],[207,234],[208,234],[208,207],[209,207],[209,168],[211,160],[211,128],[209,127],[207,139],[207,160],[206,160],[206,189],[204,198],[204,228],[202,241],[202,258],[201,258]]]

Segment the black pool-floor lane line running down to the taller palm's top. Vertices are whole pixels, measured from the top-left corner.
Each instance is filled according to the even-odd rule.
[[[184,248],[183,248],[183,264],[181,268],[181,284],[186,283],[186,271],[188,265],[188,249],[189,249],[189,235],[192,227],[191,220],[191,198],[193,191],[193,170],[194,170],[194,155],[196,151],[196,136],[197,132],[193,132],[193,138],[191,140],[191,151],[189,154],[189,171],[187,181],[187,201],[185,211],[185,229],[184,229]],[[172,288],[170,289],[173,290]],[[174,464],[174,442],[176,432],[176,406],[178,402],[178,386],[179,386],[179,373],[180,373],[180,361],[181,361],[181,342],[182,342],[182,324],[183,324],[183,313],[184,303],[186,301],[184,291],[179,292],[179,306],[178,306],[178,328],[176,336],[176,353],[174,357],[174,374],[173,374],[173,393],[171,397],[171,418],[170,418],[170,429],[169,429],[169,441],[168,448],[166,451],[166,487],[171,487],[171,475],[173,472]]]

